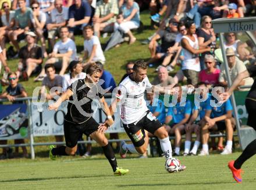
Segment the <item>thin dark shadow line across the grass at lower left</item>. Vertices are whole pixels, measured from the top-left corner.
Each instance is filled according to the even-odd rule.
[[[94,177],[109,177],[109,175],[74,175],[70,177],[24,178],[24,179],[0,180],[0,182],[70,180],[70,179],[77,179],[77,178],[94,178]]]

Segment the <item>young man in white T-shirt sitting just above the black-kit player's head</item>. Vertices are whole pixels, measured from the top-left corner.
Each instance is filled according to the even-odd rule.
[[[105,63],[105,56],[101,49],[101,42],[99,38],[93,35],[93,27],[86,26],[83,28],[84,33],[84,59],[86,63],[101,62]]]

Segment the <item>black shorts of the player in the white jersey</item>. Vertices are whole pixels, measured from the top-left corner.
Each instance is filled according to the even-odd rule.
[[[130,137],[131,142],[136,147],[142,146],[144,144],[145,131],[151,132],[152,134],[158,130],[158,128],[162,127],[161,122],[157,119],[157,117],[153,116],[153,114],[147,110],[145,112],[145,116],[130,124],[123,124],[127,135]]]

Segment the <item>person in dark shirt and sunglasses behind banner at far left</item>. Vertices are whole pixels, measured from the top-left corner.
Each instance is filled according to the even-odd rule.
[[[22,84],[19,84],[19,78],[17,77],[16,73],[9,73],[8,74],[8,80],[10,82],[9,87],[6,88],[6,92],[3,92],[2,95],[0,95],[0,98],[7,98],[10,102],[15,102],[16,98],[24,98],[27,97],[27,92],[25,91]],[[6,141],[2,141],[1,143],[7,144]],[[15,139],[15,144],[24,144],[24,139]],[[26,146],[22,146],[23,151],[23,157],[29,157],[27,153]],[[19,146],[15,148],[15,154],[16,156],[19,154]]]

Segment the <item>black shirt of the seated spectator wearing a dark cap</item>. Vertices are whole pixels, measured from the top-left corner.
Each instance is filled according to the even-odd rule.
[[[170,31],[170,28],[167,28],[163,33],[159,33],[159,35],[161,36],[162,41],[161,51],[167,52],[168,48],[175,44],[177,33],[173,33]]]

